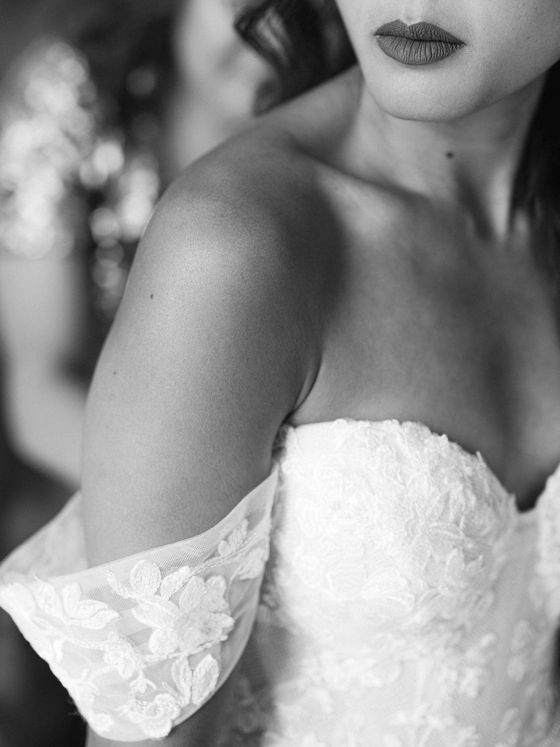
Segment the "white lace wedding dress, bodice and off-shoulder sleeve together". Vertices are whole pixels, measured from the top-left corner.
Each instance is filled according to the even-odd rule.
[[[0,567],[94,731],[162,738],[238,664],[227,747],[560,743],[560,467],[521,513],[418,423],[283,427],[273,462],[199,536],[88,569],[77,495]]]

